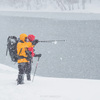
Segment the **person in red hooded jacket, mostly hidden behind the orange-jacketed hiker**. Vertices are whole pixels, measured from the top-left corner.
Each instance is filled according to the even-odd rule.
[[[34,41],[35,40],[35,36],[32,35],[32,34],[29,34],[28,35],[28,40],[30,42]],[[32,56],[31,59],[30,59],[30,61],[29,61],[29,63],[28,63],[28,70],[27,70],[27,80],[30,81],[31,80],[31,69],[32,69],[32,62],[33,62],[32,60],[33,60],[33,57],[41,57],[41,54],[35,54],[33,47],[28,48],[28,50],[30,51],[31,56]]]

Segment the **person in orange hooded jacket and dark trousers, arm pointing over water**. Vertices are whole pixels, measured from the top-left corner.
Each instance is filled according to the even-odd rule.
[[[24,74],[28,73],[29,61],[31,59],[30,52],[28,52],[28,48],[34,47],[38,40],[34,40],[32,42],[27,42],[28,36],[25,33],[20,35],[20,41],[17,43],[17,55],[18,55],[18,78],[17,84],[24,83]]]

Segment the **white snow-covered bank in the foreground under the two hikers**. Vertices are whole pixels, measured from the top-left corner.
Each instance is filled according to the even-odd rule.
[[[16,85],[17,70],[0,64],[0,100],[100,100],[100,80],[47,78]]]

